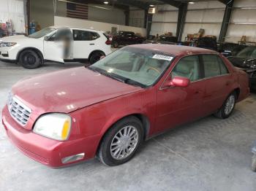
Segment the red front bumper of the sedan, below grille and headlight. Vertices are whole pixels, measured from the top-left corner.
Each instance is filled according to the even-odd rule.
[[[72,141],[56,141],[39,136],[33,133],[32,130],[22,128],[12,119],[7,106],[4,107],[2,115],[2,123],[12,143],[18,147],[20,152],[44,165],[53,168],[70,165],[94,157],[97,151],[97,145],[95,144],[99,142],[97,136]],[[84,156],[79,160],[63,163],[65,158],[72,158],[72,156],[81,153]]]

